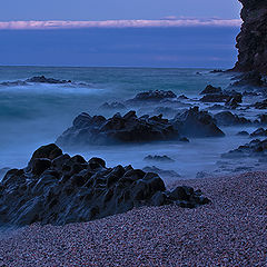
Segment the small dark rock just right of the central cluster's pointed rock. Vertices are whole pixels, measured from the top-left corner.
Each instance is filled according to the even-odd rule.
[[[250,120],[238,117],[237,115],[231,113],[230,111],[221,111],[214,116],[218,126],[234,126],[234,125],[249,125]]]

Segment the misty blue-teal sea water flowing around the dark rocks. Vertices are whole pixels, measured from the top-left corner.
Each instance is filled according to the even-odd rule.
[[[71,80],[67,85],[31,83],[29,86],[0,87],[0,169],[27,166],[32,152],[42,145],[55,142],[71,126],[80,112],[112,116],[118,110],[101,110],[108,101],[123,101],[147,90],[172,90],[190,98],[188,105],[197,105],[196,98],[209,83],[226,88],[230,75],[209,73],[209,69],[149,69],[149,68],[49,68],[0,67],[0,82],[26,80],[33,76]],[[200,108],[206,108],[205,105]],[[127,112],[122,110],[121,113]],[[138,115],[154,113],[152,107],[137,109]],[[254,117],[255,113],[249,116]],[[243,127],[221,128],[224,138],[190,139],[189,144],[176,141],[128,146],[91,146],[86,149],[65,150],[80,154],[86,159],[101,157],[107,165],[132,165],[135,168],[155,165],[177,171],[182,179],[194,178],[199,171],[215,171],[220,154],[248,141],[237,137]],[[254,130],[254,128],[246,128]],[[148,155],[167,155],[172,164],[146,162]],[[227,168],[226,168],[227,169]],[[179,177],[164,177],[171,182]]]

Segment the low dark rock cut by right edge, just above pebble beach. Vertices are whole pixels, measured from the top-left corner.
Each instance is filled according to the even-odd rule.
[[[237,149],[230,150],[221,155],[222,158],[243,158],[243,157],[267,157],[267,139],[260,141],[255,139],[249,144],[239,146]]]

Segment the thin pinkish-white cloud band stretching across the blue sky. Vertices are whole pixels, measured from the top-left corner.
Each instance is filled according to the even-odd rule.
[[[47,30],[85,28],[165,28],[165,27],[240,27],[240,19],[161,19],[105,21],[0,21],[0,30]]]

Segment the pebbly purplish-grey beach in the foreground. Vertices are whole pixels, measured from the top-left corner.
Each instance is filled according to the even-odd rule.
[[[178,181],[212,204],[2,235],[0,266],[267,266],[267,172]]]

